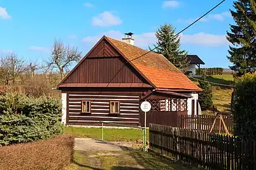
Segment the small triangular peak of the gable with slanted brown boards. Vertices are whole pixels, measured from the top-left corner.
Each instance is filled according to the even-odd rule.
[[[92,57],[116,57],[120,56],[120,54],[116,51],[115,48],[110,45],[109,42],[106,40],[102,40],[97,47],[95,47],[92,52],[90,52],[90,55],[88,55],[88,58]]]

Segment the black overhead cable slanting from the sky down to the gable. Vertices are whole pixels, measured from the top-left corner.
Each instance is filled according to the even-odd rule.
[[[194,25],[194,24],[197,23],[199,20],[201,20],[202,18],[204,18],[204,16],[206,16],[206,15],[209,14],[211,11],[213,11],[214,9],[216,9],[219,5],[221,5],[222,3],[224,3],[224,1],[226,1],[226,0],[222,0],[219,4],[217,4],[216,6],[214,6],[213,8],[211,8],[209,11],[207,11],[207,13],[203,14],[202,16],[200,16],[200,18],[198,18],[197,20],[193,21],[193,23],[191,23],[190,25],[186,26],[186,27],[185,27],[183,30],[181,30],[180,32],[176,33],[176,35],[174,35],[173,37],[171,37],[171,39],[177,37],[178,35],[180,35],[180,33],[182,33],[183,31],[187,30],[188,28],[190,28],[190,26]],[[139,59],[140,57],[143,57],[144,55],[149,54],[150,52],[154,51],[156,48],[159,48],[159,47],[161,47],[161,45],[158,45],[157,47],[155,47],[155,48],[149,50],[149,51],[146,52],[145,54],[142,54],[142,55],[136,57],[135,59],[132,59],[132,60],[127,61],[127,62],[118,70],[118,72],[116,72],[116,74],[115,74],[114,77],[111,79],[111,81],[109,81],[109,82],[107,83],[107,86],[109,86],[109,84],[110,84],[110,83],[113,81],[113,79],[118,75],[118,73],[119,73],[121,70],[123,70],[123,68],[125,67],[126,64],[128,64],[129,62],[132,62],[133,60],[137,60],[137,59]],[[106,86],[106,88],[107,88],[107,86]],[[101,93],[102,93],[102,91],[101,91]],[[100,94],[101,94],[101,93],[100,93]],[[99,94],[99,95],[100,95],[100,94]]]

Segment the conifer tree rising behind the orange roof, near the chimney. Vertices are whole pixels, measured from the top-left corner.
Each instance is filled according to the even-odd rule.
[[[155,32],[157,38],[155,52],[164,55],[173,65],[175,65],[180,71],[185,72],[188,68],[187,52],[180,50],[180,37],[171,38],[175,35],[175,28],[172,25],[161,25]]]

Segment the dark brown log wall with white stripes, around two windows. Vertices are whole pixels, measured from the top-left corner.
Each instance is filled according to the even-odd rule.
[[[81,102],[91,101],[91,113],[81,113]],[[119,101],[119,115],[109,113],[109,101]],[[101,125],[99,121],[135,125],[140,123],[139,94],[68,94],[68,125]]]

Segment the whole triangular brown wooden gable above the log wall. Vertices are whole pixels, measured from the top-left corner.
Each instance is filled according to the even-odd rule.
[[[58,87],[68,84],[130,83],[151,86],[150,83],[103,37],[75,68],[61,81]],[[125,65],[125,66],[124,66]],[[123,69],[121,69],[123,67]],[[121,69],[121,71],[119,71]],[[119,72],[118,72],[119,71]],[[117,74],[118,72],[118,74]],[[117,75],[116,75],[117,74]],[[144,84],[144,85],[143,85]]]

